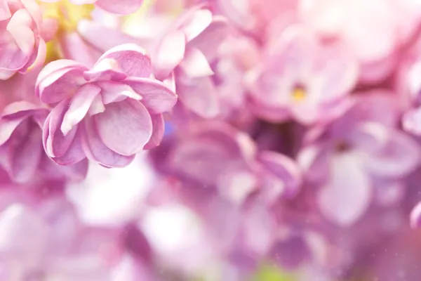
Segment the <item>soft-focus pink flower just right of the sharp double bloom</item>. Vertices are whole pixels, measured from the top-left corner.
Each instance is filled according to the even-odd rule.
[[[197,6],[173,24],[154,52],[156,78],[171,79],[175,74],[182,105],[201,117],[215,117],[220,112],[209,63],[226,33],[224,18]]]

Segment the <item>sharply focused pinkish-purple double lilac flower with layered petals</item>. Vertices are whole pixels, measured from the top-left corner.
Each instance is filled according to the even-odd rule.
[[[162,113],[177,96],[149,78],[149,57],[134,44],[116,46],[92,70],[55,60],[36,81],[36,95],[55,106],[44,124],[48,157],[61,165],[88,157],[108,167],[130,164],[135,154],[159,145]]]

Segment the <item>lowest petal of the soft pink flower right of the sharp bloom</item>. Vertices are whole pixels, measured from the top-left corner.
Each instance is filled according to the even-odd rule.
[[[184,79],[177,84],[177,93],[183,105],[204,118],[220,114],[220,100],[210,77]]]

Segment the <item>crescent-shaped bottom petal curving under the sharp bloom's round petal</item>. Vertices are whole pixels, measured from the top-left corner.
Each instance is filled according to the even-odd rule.
[[[123,167],[133,162],[135,155],[123,156],[107,148],[98,137],[98,132],[92,123],[92,118],[85,118],[83,126],[83,151],[88,159],[107,167]]]

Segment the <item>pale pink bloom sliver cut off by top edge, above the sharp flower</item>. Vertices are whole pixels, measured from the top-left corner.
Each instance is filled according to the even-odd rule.
[[[41,0],[47,3],[53,3],[62,0]],[[72,4],[83,5],[83,4],[96,4],[103,10],[126,15],[134,13],[142,6],[143,0],[69,0]]]

